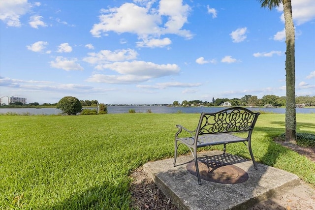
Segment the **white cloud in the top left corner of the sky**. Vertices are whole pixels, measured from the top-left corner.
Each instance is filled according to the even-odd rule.
[[[20,17],[31,8],[27,0],[0,0],[0,19],[10,27],[21,27]]]

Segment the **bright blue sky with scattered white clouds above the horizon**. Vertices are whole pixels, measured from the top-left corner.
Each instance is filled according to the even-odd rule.
[[[292,0],[296,95],[315,95],[315,0]],[[283,8],[258,0],[1,0],[0,95],[163,104],[285,96]]]

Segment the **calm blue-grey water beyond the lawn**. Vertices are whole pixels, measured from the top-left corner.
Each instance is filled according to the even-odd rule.
[[[96,108],[90,108],[96,109]],[[167,107],[167,106],[107,106],[108,114],[128,113],[130,109],[134,109],[136,113],[147,113],[151,110],[152,113],[201,113],[201,112],[217,112],[223,107]],[[272,112],[285,113],[285,108],[249,108],[254,112]],[[0,109],[0,113],[17,113],[17,114],[32,114],[32,115],[57,115],[62,113],[56,108],[15,108],[15,109]],[[296,113],[315,114],[315,108],[297,108]]]

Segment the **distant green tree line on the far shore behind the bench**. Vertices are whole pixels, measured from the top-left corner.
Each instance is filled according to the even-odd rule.
[[[315,96],[296,96],[296,104],[303,106],[315,106]],[[241,98],[212,98],[211,102],[201,100],[184,100],[182,103],[173,102],[173,106],[221,106],[222,103],[229,102],[231,106],[265,106],[272,105],[275,107],[285,106],[286,97],[277,95],[264,95],[258,98],[256,95],[245,95]]]

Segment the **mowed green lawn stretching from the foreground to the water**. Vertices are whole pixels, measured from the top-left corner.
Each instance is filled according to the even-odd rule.
[[[194,129],[199,116],[1,115],[0,209],[129,209],[131,171],[173,157],[175,125]],[[315,163],[274,143],[284,127],[283,114],[259,116],[252,135],[256,161],[315,186]],[[315,114],[297,114],[297,132],[315,133]],[[243,143],[228,145],[227,152],[250,159]]]

